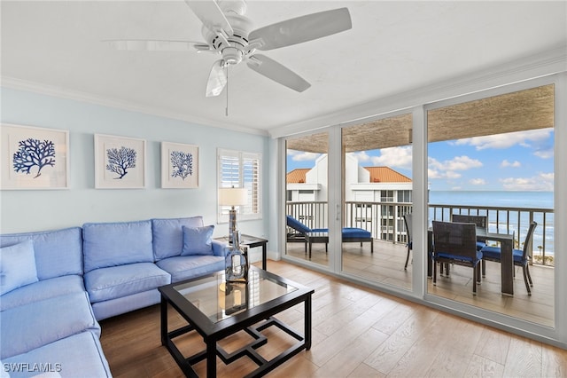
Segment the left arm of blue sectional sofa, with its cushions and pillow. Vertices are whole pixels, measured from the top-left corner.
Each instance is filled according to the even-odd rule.
[[[82,229],[0,235],[0,248],[3,373],[111,376],[82,278]]]

